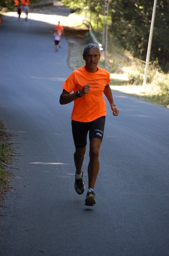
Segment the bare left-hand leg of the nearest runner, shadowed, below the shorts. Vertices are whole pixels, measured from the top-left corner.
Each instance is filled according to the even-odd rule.
[[[84,148],[76,148],[76,151],[74,153],[74,162],[75,162],[77,174],[81,174],[82,172],[82,164],[83,164],[85,152],[86,152],[86,146]]]

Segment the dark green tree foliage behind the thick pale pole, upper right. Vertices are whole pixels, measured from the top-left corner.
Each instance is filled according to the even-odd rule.
[[[145,60],[154,0],[118,0],[111,10],[111,30],[135,56]],[[169,1],[158,0],[151,60],[169,70]]]

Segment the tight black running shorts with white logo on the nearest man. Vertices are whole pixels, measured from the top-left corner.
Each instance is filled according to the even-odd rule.
[[[78,122],[72,120],[72,134],[74,144],[77,148],[83,148],[87,144],[87,133],[89,139],[98,138],[102,141],[104,134],[105,116],[101,116],[92,122]]]

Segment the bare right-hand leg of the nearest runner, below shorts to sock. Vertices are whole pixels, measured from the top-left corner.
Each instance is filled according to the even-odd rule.
[[[101,140],[94,138],[90,141],[90,161],[88,165],[88,185],[89,188],[94,189],[97,175],[99,173],[99,149]]]

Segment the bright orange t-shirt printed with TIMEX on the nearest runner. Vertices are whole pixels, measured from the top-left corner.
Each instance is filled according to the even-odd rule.
[[[110,73],[101,67],[95,73],[87,72],[84,67],[74,70],[62,88],[68,93],[82,90],[90,84],[90,92],[74,100],[71,119],[79,122],[91,122],[101,116],[106,116],[106,103],[103,97],[104,87],[110,82]]]

